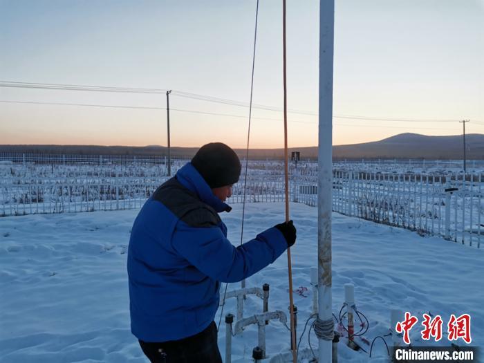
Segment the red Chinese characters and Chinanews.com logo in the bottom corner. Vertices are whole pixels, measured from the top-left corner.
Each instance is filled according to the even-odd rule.
[[[397,322],[395,332],[407,346],[395,346],[395,362],[480,362],[478,348],[469,346],[472,343],[471,316],[451,314],[445,322],[440,315],[422,314],[421,323],[411,313],[406,312],[404,319]],[[423,342],[439,342],[447,339],[451,346],[411,346],[410,332],[420,328]],[[415,335],[413,335],[415,336]],[[459,343],[463,345],[458,345]]]

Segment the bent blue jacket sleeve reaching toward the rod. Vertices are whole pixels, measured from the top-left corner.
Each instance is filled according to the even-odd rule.
[[[255,239],[234,247],[218,226],[192,227],[179,221],[171,243],[189,263],[212,279],[241,281],[262,270],[288,248],[277,228],[269,228]]]

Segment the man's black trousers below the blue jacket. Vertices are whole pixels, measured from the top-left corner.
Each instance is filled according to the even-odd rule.
[[[217,345],[217,327],[212,322],[204,331],[169,342],[139,341],[151,363],[222,363]]]

